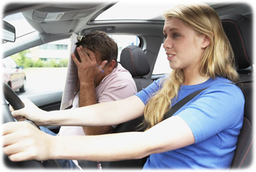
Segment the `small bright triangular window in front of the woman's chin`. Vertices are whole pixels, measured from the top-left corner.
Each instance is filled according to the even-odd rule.
[[[154,66],[154,71],[152,75],[161,75],[170,73],[172,69],[170,68],[169,61],[167,60],[163,44],[161,45],[161,48],[159,50],[159,53],[157,55],[156,64]]]

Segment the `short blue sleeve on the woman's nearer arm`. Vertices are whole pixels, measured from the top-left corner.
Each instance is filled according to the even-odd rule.
[[[196,96],[177,115],[190,127],[195,143],[206,140],[224,129],[237,129],[243,124],[244,96],[233,84],[212,86]]]

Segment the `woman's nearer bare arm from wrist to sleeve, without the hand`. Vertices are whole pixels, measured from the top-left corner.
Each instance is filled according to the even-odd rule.
[[[163,134],[163,131],[170,131]],[[195,143],[188,124],[172,117],[145,132],[104,134],[100,136],[52,137],[50,159],[122,161],[140,159]]]

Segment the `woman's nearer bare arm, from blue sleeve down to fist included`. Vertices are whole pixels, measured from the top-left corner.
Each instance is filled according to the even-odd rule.
[[[170,132],[163,134],[163,131]],[[3,151],[11,161],[31,159],[120,161],[140,159],[193,143],[195,143],[193,133],[180,117],[168,118],[145,132],[100,136],[51,136],[28,122],[3,124]]]

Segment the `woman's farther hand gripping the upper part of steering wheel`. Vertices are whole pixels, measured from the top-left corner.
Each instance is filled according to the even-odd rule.
[[[20,110],[13,110],[10,106],[10,111],[13,117],[18,121],[24,121],[26,119],[33,121],[36,125],[44,125],[44,121],[47,117],[47,111],[40,110],[35,104],[29,99],[22,99],[24,108]]]

